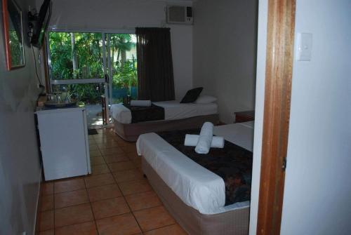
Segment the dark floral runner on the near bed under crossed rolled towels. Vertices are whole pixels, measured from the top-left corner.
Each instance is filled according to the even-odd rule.
[[[198,135],[200,130],[176,130],[157,133],[169,144],[204,168],[223,178],[225,206],[249,201],[251,195],[252,152],[225,140],[223,149],[211,148],[197,154],[195,147],[184,146],[185,134]]]

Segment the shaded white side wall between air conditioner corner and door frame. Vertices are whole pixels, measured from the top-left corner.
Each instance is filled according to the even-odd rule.
[[[257,0],[194,2],[194,86],[218,98],[220,120],[255,103]]]

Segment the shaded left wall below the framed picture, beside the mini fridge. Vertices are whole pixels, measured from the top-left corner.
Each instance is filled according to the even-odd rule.
[[[23,11],[35,4],[17,2]],[[34,126],[37,78],[28,46],[25,67],[6,71],[2,17],[0,24],[0,234],[33,234],[41,179]]]

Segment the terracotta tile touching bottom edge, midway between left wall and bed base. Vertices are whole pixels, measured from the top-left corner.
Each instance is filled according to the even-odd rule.
[[[140,227],[131,213],[96,220],[99,234],[131,235],[140,233]]]

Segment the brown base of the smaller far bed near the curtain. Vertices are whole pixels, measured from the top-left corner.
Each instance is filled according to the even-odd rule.
[[[135,142],[138,140],[139,135],[144,133],[201,128],[205,121],[211,121],[216,125],[219,122],[219,116],[218,114],[211,114],[194,116],[188,119],[145,121],[130,124],[124,124],[114,120],[114,132],[126,141]]]

